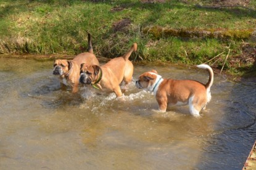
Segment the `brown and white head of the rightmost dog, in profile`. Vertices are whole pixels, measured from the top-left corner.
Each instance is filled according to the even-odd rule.
[[[159,78],[161,78],[161,75],[157,74],[155,70],[144,72],[139,75],[139,79],[136,81],[136,87],[150,90]]]

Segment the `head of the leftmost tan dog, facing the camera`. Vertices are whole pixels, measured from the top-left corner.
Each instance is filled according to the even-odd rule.
[[[72,68],[72,62],[68,60],[55,60],[53,64],[54,75],[64,75]]]

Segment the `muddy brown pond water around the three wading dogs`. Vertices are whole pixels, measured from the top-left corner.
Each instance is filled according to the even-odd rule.
[[[135,66],[134,80],[207,82],[200,69]],[[158,113],[154,96],[135,88],[125,102],[80,87],[60,90],[52,61],[0,58],[0,169],[241,169],[256,139],[254,82],[215,75],[200,118],[188,107]]]

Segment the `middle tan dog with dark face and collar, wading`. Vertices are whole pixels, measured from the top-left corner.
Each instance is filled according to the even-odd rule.
[[[129,57],[136,50],[137,44],[134,43],[125,55],[114,58],[101,67],[82,64],[80,82],[97,86],[102,91],[114,91],[117,97],[122,96],[120,83],[123,81],[128,84],[133,78],[133,63]]]

